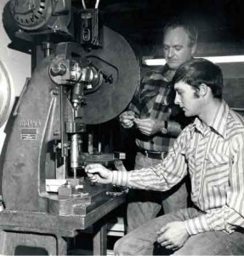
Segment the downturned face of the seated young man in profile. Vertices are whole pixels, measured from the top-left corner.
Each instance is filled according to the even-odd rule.
[[[196,90],[190,84],[179,81],[174,84],[176,96],[174,103],[179,105],[185,116],[199,115],[201,111],[201,97],[196,96]]]

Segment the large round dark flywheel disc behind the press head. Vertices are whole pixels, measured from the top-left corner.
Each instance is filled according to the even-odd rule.
[[[76,43],[60,43],[55,50],[55,55],[65,59],[76,55],[76,59],[87,60],[103,76],[99,90],[87,90],[87,94],[84,90],[82,121],[86,125],[101,124],[122,113],[139,84],[138,61],[128,42],[106,26],[103,35],[103,47],[90,52]]]

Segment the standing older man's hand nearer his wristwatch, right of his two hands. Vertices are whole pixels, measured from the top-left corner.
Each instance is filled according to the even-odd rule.
[[[161,131],[165,126],[165,122],[156,119],[134,119],[139,131],[147,136],[153,135]]]

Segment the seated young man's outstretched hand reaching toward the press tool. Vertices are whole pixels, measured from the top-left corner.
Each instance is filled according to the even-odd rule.
[[[85,168],[92,183],[108,184],[112,182],[112,172],[99,164],[88,165]]]

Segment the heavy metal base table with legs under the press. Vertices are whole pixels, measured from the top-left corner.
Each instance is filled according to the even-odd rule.
[[[57,216],[45,212],[0,212],[0,254],[65,255],[70,238],[94,225],[94,255],[106,254],[105,215],[125,201],[125,194],[108,198],[81,215]],[[35,253],[34,253],[35,252]]]

